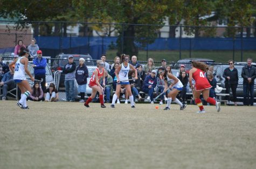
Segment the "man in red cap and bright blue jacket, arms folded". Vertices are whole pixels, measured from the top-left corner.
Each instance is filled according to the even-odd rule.
[[[47,64],[46,58],[43,58],[41,50],[38,50],[37,57],[33,60],[33,64],[31,66],[34,68],[34,79],[40,80],[41,78],[43,78],[43,82],[41,82],[41,88],[43,89],[44,92],[46,90],[46,86],[45,86],[46,64]]]

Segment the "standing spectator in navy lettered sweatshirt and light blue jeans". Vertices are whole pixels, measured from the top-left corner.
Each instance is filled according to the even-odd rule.
[[[81,57],[79,58],[79,65],[75,70],[75,79],[77,80],[78,92],[80,92],[80,96],[81,96],[81,99],[79,102],[85,102],[87,77],[89,77],[88,69],[85,65],[85,59]]]

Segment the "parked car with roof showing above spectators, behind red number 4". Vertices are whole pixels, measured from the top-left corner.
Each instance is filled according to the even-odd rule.
[[[182,60],[178,60],[177,63],[174,64],[174,67],[172,69],[179,69],[182,64],[185,65],[185,70],[189,71],[191,69],[191,62],[192,61],[200,61],[204,62],[208,65],[215,64],[215,61],[209,59],[209,58],[184,58]]]

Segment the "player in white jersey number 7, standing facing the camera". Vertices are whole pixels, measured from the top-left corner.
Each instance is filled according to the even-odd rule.
[[[130,82],[128,80],[128,74],[130,69],[135,71],[135,78],[137,79],[137,70],[133,67],[132,64],[129,64],[129,55],[125,55],[122,54],[121,56],[121,60],[122,60],[122,64],[119,65],[119,67],[115,70],[115,76],[117,77],[117,85],[116,85],[116,90],[115,90],[115,94],[113,95],[113,99],[112,99],[112,104],[111,107],[114,108],[115,107],[115,101],[117,99],[117,95],[120,94],[120,90],[121,90],[121,85],[124,85],[126,87],[126,91],[129,95],[129,100],[130,100],[130,104],[132,105],[132,108],[135,108],[134,106],[134,101],[133,101],[133,93],[130,89]]]

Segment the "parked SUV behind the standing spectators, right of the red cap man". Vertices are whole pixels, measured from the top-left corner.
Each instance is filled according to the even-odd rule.
[[[80,54],[63,54],[60,53],[57,55],[55,58],[56,60],[53,61],[52,63],[52,71],[57,71],[57,70],[63,70],[64,66],[68,63],[68,56],[72,55],[74,58],[75,64],[78,66],[79,65],[79,58],[84,58],[85,59],[85,64],[86,66],[94,66],[94,62],[92,61],[92,56],[89,54],[86,55],[80,55]],[[65,81],[65,74],[60,75],[60,82],[59,82],[59,87],[64,87],[64,81]],[[62,90],[62,89],[61,89]]]

